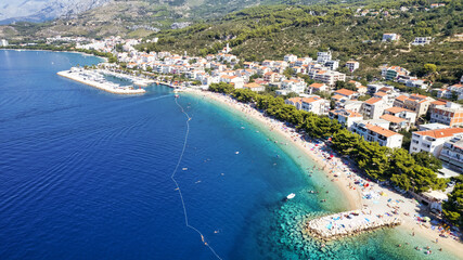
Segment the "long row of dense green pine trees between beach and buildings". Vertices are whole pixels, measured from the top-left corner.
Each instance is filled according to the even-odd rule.
[[[233,89],[227,83],[211,84],[210,91],[231,94],[244,103],[254,103],[269,116],[296,126],[314,139],[332,138],[333,147],[342,155],[357,161],[360,169],[374,180],[390,181],[394,185],[416,193],[429,188],[441,190],[446,180],[437,179],[436,170],[440,161],[428,153],[410,155],[403,148],[380,146],[377,142],[366,142],[357,133],[351,133],[336,120],[297,110],[286,105],[281,98],[257,94],[247,89]]]

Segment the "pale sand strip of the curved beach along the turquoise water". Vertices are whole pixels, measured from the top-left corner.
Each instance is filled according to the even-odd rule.
[[[398,229],[402,229],[410,234],[409,247],[415,247],[415,245],[413,245],[413,236],[417,235],[428,240],[426,246],[429,246],[433,250],[432,255],[438,256],[438,249],[440,248],[447,252],[451,251],[455,256],[463,255],[463,243],[452,238],[439,237],[437,229],[432,230],[430,227],[425,227],[416,221],[415,216],[419,216],[420,208],[414,199],[403,197],[400,194],[382,187],[374,182],[369,182],[368,180],[362,179],[356,173],[355,165],[345,164],[339,157],[334,156],[330,160],[324,159],[324,157],[330,155],[331,152],[323,151],[323,148],[326,148],[323,144],[316,145],[314,143],[304,141],[298,133],[285,127],[282,122],[266,117],[257,109],[247,104],[239,103],[230,96],[191,89],[189,89],[188,92],[217,101],[241,112],[253,120],[266,126],[272,132],[278,133],[281,138],[287,140],[288,145],[291,144],[297,147],[311,160],[316,161],[319,165],[319,168],[324,170],[324,174],[326,174],[326,177],[330,178],[342,191],[342,194],[346,195],[345,198],[349,204],[346,205],[346,210],[365,207],[381,212],[397,210],[398,216],[403,220],[403,224]],[[362,187],[355,184],[355,182],[359,181],[361,183],[368,183],[368,186]],[[364,198],[365,194],[371,194],[374,198],[366,199]],[[436,238],[438,239],[437,243]]]

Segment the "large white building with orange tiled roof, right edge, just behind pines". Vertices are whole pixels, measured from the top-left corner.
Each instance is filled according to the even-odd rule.
[[[416,131],[412,134],[410,153],[420,153],[422,151],[432,153],[439,157],[440,151],[447,141],[455,136],[462,136],[462,128],[447,128],[428,131]]]

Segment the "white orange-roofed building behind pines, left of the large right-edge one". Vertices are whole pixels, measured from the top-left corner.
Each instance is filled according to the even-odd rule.
[[[402,146],[403,135],[383,127],[355,121],[350,131],[360,134],[365,141],[378,142],[381,146],[390,148]]]

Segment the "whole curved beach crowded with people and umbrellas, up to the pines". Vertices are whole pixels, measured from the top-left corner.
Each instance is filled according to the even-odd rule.
[[[402,222],[397,229],[407,232],[410,235],[410,242],[404,245],[398,244],[397,247],[413,247],[416,250],[423,250],[426,255],[435,255],[439,251],[450,251],[456,256],[463,253],[461,234],[458,231],[451,231],[437,219],[423,213],[416,199],[403,196],[389,186],[362,177],[356,164],[348,157],[343,157],[333,151],[330,147],[330,142],[305,136],[284,122],[272,119],[252,105],[240,103],[229,95],[194,89],[187,89],[185,93],[194,94],[242,113],[248,120],[261,125],[285,140],[284,142],[280,141],[280,145],[291,146],[304,153],[316,162],[313,167],[322,171],[326,180],[330,180],[334,184],[333,186],[337,187],[345,196],[347,205],[344,206],[344,210],[361,209],[370,214],[377,212],[377,214],[400,218]],[[311,177],[313,170],[307,169],[307,174]],[[311,192],[318,193],[318,191]],[[415,236],[428,240],[428,245],[424,248],[414,245]]]

